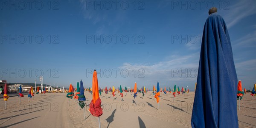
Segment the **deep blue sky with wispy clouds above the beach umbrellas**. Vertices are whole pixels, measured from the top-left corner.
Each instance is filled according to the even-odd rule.
[[[256,2],[243,1],[1,1],[1,80],[68,87],[194,90],[208,10],[227,23],[243,88],[256,82]],[[16,37],[17,35],[17,37]],[[31,39],[31,40],[30,40]],[[43,39],[43,40],[42,40]]]

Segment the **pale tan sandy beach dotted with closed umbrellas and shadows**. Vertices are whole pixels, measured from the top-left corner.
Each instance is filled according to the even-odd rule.
[[[102,93],[103,114],[100,117],[102,128],[188,128],[191,127],[194,92],[178,95],[160,94],[159,110],[151,92],[141,93],[134,99],[133,93],[124,92],[124,101],[120,93],[115,97]],[[7,109],[5,101],[0,99],[0,127],[14,128],[95,128],[99,127],[98,118],[88,111],[92,95],[84,92],[86,107],[84,110],[76,99],[66,97],[66,93],[46,93],[32,97],[9,97]],[[238,102],[238,101],[237,101]],[[238,102],[239,103],[239,102]],[[238,110],[239,128],[256,127],[256,97],[250,93],[244,95]]]

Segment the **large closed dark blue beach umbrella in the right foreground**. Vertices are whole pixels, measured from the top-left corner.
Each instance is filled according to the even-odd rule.
[[[227,26],[213,7],[204,25],[192,128],[238,128],[237,83]]]

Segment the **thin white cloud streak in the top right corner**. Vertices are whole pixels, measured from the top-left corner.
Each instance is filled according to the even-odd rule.
[[[231,28],[243,18],[256,14],[255,4],[253,0],[240,0],[238,3],[230,6],[230,9],[223,14],[227,27]]]

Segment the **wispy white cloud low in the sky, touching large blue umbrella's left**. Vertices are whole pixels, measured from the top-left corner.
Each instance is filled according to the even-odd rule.
[[[165,58],[166,61],[160,61],[155,64],[132,64],[124,63],[120,69],[127,69],[129,72],[137,72],[137,81],[141,83],[155,83],[161,81],[162,84],[189,84],[194,83],[197,78],[199,53],[193,53],[185,56],[172,55]],[[131,77],[134,77],[131,75]]]

